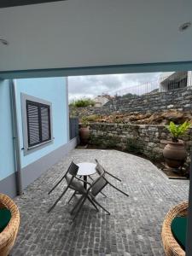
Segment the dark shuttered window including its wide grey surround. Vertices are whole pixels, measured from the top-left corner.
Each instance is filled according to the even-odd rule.
[[[52,141],[51,102],[21,94],[24,152],[31,153]]]

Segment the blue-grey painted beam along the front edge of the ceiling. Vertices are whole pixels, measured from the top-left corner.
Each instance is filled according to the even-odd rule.
[[[112,65],[99,67],[50,68],[0,72],[0,79],[66,77],[113,73],[151,73],[192,70],[192,61]]]

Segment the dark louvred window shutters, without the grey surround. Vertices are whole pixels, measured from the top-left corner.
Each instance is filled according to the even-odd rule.
[[[36,146],[51,139],[50,108],[38,102],[26,101],[28,146]]]

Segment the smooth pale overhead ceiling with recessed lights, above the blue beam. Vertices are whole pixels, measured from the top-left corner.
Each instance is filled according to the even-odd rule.
[[[68,0],[0,9],[0,72],[192,61],[191,0]]]

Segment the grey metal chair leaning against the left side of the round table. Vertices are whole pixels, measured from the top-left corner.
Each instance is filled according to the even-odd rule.
[[[58,199],[55,201],[55,203],[52,205],[52,207],[49,207],[48,212],[50,212],[55,207],[55,205],[58,203],[58,201],[61,200],[61,197],[66,194],[67,189],[73,189],[74,190],[73,195],[75,195],[76,193],[79,193],[80,195],[86,193],[86,189],[84,189],[84,180],[82,180],[79,177],[76,177],[78,170],[79,170],[79,166],[75,165],[72,161],[72,163],[68,167],[65,175],[63,177],[61,177],[59,182],[56,183],[52,189],[49,190],[48,195],[61,183],[61,181],[64,178],[66,179],[66,181],[67,181],[66,189],[64,189],[64,191],[61,193],[61,195],[58,197]],[[83,182],[83,183],[81,183],[81,182]],[[69,201],[72,200],[73,195],[71,196]]]

